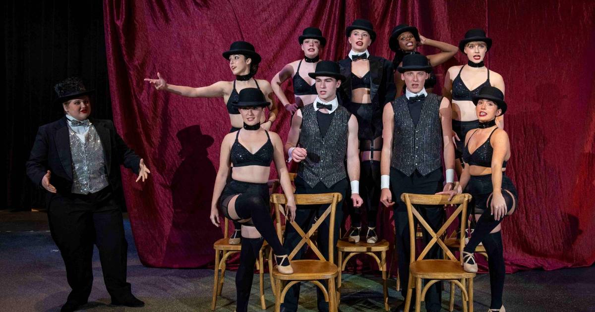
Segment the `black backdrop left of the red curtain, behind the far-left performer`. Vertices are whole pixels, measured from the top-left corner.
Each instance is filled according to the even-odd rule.
[[[10,1],[4,5],[6,204],[43,207],[43,193],[24,174],[37,127],[62,115],[53,105],[58,81],[77,75],[95,89],[95,118],[112,119],[101,1]]]

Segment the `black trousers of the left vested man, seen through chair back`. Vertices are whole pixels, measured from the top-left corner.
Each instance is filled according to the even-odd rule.
[[[349,182],[347,182],[347,178],[342,179],[341,181],[337,182],[331,187],[326,187],[324,183],[318,182],[315,187],[310,187],[310,185],[306,184],[302,178],[299,176],[295,178],[294,184],[296,186],[295,194],[322,194],[322,193],[341,193],[343,199],[339,201],[337,204],[337,210],[335,213],[335,223],[334,223],[334,242],[333,246],[337,245],[337,241],[339,240],[339,228],[341,226],[341,220],[343,219],[343,201],[350,200],[349,198],[345,198],[345,194],[347,188],[349,187]],[[321,216],[325,210],[327,210],[328,205],[308,205],[308,206],[297,206],[296,212],[296,223],[303,229],[304,232],[307,232],[312,224],[314,223],[315,216]],[[318,250],[322,256],[324,256],[328,260],[328,230],[329,230],[329,223],[330,218],[324,220],[320,228],[318,228],[318,237],[317,237],[317,245]],[[297,243],[302,239],[299,234],[297,234],[296,230],[291,225],[287,225],[285,227],[285,241],[283,242],[283,247],[287,249],[287,252],[291,253],[293,247],[297,245]],[[306,246],[302,247],[300,251],[296,253],[296,256],[293,259],[302,259],[304,252],[306,251]],[[333,251],[336,251],[336,248],[333,248]],[[336,256],[335,256],[336,257]],[[322,285],[325,285],[322,282]],[[325,285],[326,286],[326,285]],[[295,312],[297,311],[297,300],[299,299],[299,289],[300,283],[293,285],[287,294],[285,295],[285,300],[281,307],[283,307],[287,312]],[[318,311],[328,311],[328,303],[324,301],[324,295],[322,291],[317,287],[316,288],[317,296],[318,296]]]

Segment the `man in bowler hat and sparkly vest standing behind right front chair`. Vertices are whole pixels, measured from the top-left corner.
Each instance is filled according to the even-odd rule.
[[[432,68],[421,54],[406,55],[397,70],[405,81],[406,91],[383,112],[383,149],[380,162],[380,201],[386,207],[394,206],[395,248],[399,257],[399,277],[403,298],[409,282],[409,221],[403,193],[435,194],[453,188],[455,178],[455,147],[452,143],[450,102],[446,97],[427,93],[425,80]],[[446,166],[446,184],[443,184],[442,154]],[[443,220],[443,207],[428,207],[419,212],[437,231]],[[424,231],[424,241],[428,234]],[[428,258],[441,259],[438,245],[434,245]],[[427,311],[440,311],[441,283],[428,289],[425,296]],[[415,295],[415,293],[414,293]],[[412,299],[412,302],[415,302]],[[396,311],[403,311],[405,302]]]

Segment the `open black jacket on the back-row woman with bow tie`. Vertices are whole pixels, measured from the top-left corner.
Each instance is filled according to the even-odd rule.
[[[377,103],[381,108],[384,104],[394,100],[397,94],[394,85],[393,63],[386,58],[370,55],[370,98],[372,103]],[[351,100],[351,59],[349,57],[339,61],[341,74],[346,80],[341,83],[341,96],[343,100]]]

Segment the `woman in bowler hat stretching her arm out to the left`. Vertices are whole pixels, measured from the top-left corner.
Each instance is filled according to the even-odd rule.
[[[221,97],[226,103],[227,112],[231,122],[230,133],[238,131],[243,126],[243,119],[240,111],[233,105],[239,98],[239,92],[246,88],[258,88],[265,94],[270,105],[269,114],[261,114],[260,124],[265,130],[270,130],[275,118],[277,118],[277,105],[273,100],[273,89],[267,80],[256,79],[254,75],[258,72],[258,65],[262,58],[256,53],[254,46],[245,41],[236,41],[231,43],[229,50],[223,52],[223,58],[228,61],[231,73],[236,75],[233,81],[217,81],[211,86],[205,87],[186,87],[169,84],[161,74],[157,73],[157,79],[146,78],[150,84],[155,86],[156,90],[167,91],[186,97]],[[210,61],[210,60],[208,60]],[[210,63],[209,63],[210,64]],[[239,222],[233,222],[234,231],[231,234],[229,243],[233,245],[240,244],[241,225]]]

